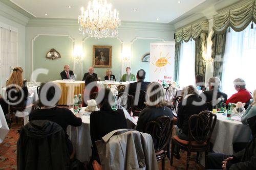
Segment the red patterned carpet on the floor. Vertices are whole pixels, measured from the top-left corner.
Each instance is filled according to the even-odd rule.
[[[8,135],[6,136],[3,143],[0,144],[0,170],[6,169],[17,169],[16,168],[16,143],[19,137],[18,130],[21,127],[21,123],[13,124]],[[196,155],[193,154],[191,159],[195,160]],[[185,169],[186,167],[186,152],[181,151],[181,159],[177,160],[174,158],[174,166],[170,166],[170,162],[166,159],[165,169]],[[159,162],[159,169],[161,169],[161,163]],[[196,164],[195,161],[190,161],[189,169],[204,169],[199,164]]]

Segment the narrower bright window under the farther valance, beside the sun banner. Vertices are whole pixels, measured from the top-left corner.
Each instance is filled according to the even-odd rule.
[[[179,61],[180,87],[195,85],[195,41],[182,42]]]

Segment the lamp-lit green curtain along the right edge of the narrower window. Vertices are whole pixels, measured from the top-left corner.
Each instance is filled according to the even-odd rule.
[[[195,60],[195,74],[202,75],[205,79],[205,69],[206,69],[206,47],[207,47],[207,37],[208,34],[202,33],[200,37],[196,40],[196,60]]]

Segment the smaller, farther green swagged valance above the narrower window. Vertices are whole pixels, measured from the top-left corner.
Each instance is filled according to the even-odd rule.
[[[175,41],[176,43],[181,43],[182,40],[188,42],[190,38],[197,40],[201,33],[208,33],[208,26],[208,21],[201,21],[178,29],[175,33]]]

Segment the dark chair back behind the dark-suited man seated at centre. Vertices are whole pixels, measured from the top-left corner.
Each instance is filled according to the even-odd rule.
[[[136,92],[133,93],[134,100],[133,100],[133,110],[141,111],[143,110],[146,105],[146,92],[144,90],[140,90],[138,94]]]

